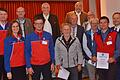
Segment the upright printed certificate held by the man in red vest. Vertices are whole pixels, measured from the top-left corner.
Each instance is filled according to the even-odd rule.
[[[96,68],[108,69],[109,68],[109,53],[97,52],[97,66]]]

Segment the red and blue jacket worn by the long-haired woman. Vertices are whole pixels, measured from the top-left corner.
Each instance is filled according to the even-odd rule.
[[[10,36],[4,40],[4,63],[6,72],[11,72],[12,67],[25,65],[24,38]]]

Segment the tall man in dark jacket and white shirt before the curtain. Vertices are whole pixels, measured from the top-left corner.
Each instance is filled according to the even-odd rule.
[[[51,33],[53,41],[55,43],[58,36],[60,36],[59,21],[56,15],[50,13],[50,5],[43,3],[41,6],[42,13],[36,16],[43,17],[45,19],[45,25],[43,30]]]

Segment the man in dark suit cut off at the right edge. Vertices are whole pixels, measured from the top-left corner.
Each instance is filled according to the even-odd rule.
[[[112,29],[117,31],[118,35],[120,36],[120,12],[113,13],[112,20],[114,24]],[[117,59],[117,79],[116,80],[120,80],[120,55]]]

